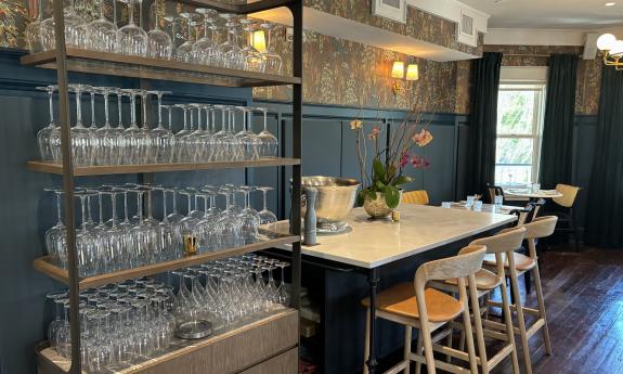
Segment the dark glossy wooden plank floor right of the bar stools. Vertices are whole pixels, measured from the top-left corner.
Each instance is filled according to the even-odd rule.
[[[541,274],[554,354],[534,335],[533,372],[623,374],[623,250],[546,252]],[[492,373],[512,373],[509,360]]]

